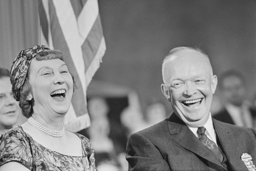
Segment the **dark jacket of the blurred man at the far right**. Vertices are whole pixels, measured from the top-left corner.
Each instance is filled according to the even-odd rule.
[[[256,118],[256,110],[254,109],[250,109],[252,118]],[[233,124],[235,125],[233,119],[230,117],[228,111],[226,110],[226,108],[220,110],[218,113],[216,113],[215,115],[212,116],[212,118],[217,119],[221,122],[226,122],[228,124]]]

